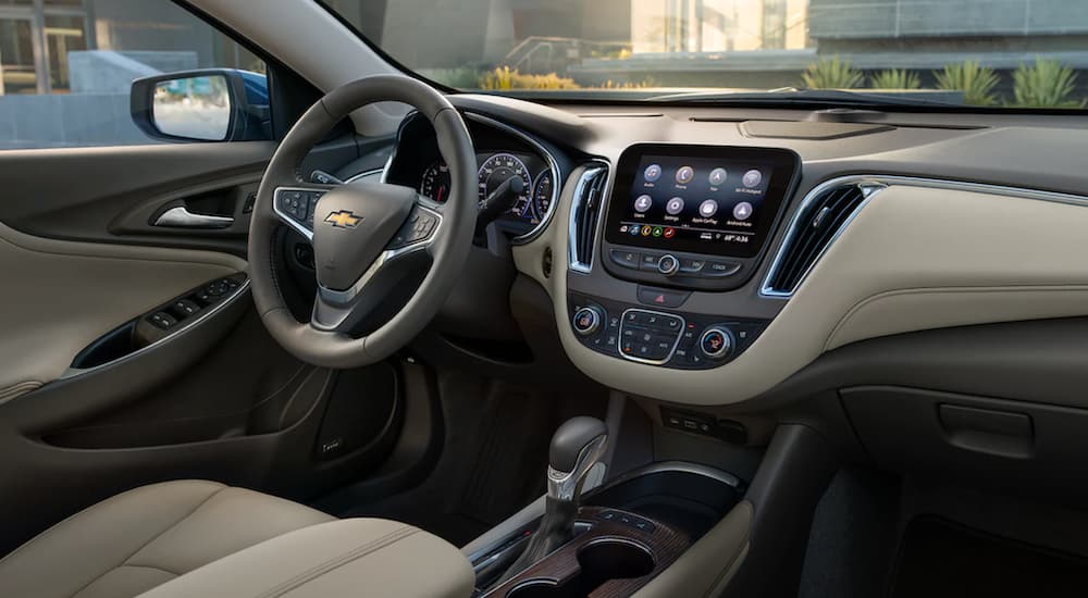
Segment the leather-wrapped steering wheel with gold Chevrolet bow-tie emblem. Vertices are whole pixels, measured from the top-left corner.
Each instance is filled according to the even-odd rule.
[[[312,189],[314,194],[324,194],[320,196],[317,209],[311,210],[310,216],[309,227],[313,233],[311,238],[316,253],[320,240],[318,235],[342,235],[338,238],[344,239],[347,238],[346,235],[364,234],[362,227],[359,231],[345,231],[346,227],[335,223],[332,226],[338,226],[339,229],[335,232],[326,229],[327,226],[322,222],[331,222],[326,219],[335,220],[336,212],[325,216],[322,211],[329,212],[329,210],[322,208],[323,202],[326,197],[332,197],[333,190],[341,192],[338,191],[341,188],[333,189],[326,185],[306,183],[299,174],[299,167],[310,149],[321,141],[336,123],[359,108],[381,101],[412,105],[431,122],[437,134],[438,151],[449,167],[450,194],[444,204],[437,205],[425,204],[425,198],[418,198],[415,196],[415,189],[410,190],[417,200],[412,214],[417,213],[417,210],[425,209],[425,212],[438,220],[433,233],[426,239],[425,247],[421,248],[431,258],[430,269],[399,312],[366,336],[354,337],[345,331],[332,329],[319,322],[322,313],[333,309],[326,304],[330,298],[345,292],[329,290],[321,286],[320,269],[324,262],[318,264],[319,296],[310,322],[298,322],[285,304],[276,279],[274,235],[276,228],[285,223],[295,228],[298,228],[300,223],[298,219],[277,211],[275,201],[280,197],[277,190],[283,192],[285,187]],[[401,75],[378,75],[341,86],[321,98],[302,114],[280,144],[261,179],[254,205],[248,246],[250,286],[258,313],[272,337],[298,359],[334,369],[360,367],[376,363],[406,346],[438,312],[443,301],[453,290],[468,257],[478,211],[475,175],[475,154],[465,122],[442,94],[424,83]],[[406,195],[404,189],[407,188],[394,189],[394,187],[396,186],[369,184],[343,192],[396,195],[400,201],[401,196]],[[332,201],[330,199],[330,202]],[[421,202],[425,205],[421,205]],[[350,211],[348,213],[354,214]],[[369,214],[362,213],[358,216],[360,217],[356,220],[357,223],[362,221],[370,224],[366,220],[370,217]],[[400,215],[397,213],[394,216]],[[393,220],[393,216],[388,220]],[[301,221],[305,226],[306,219]],[[384,244],[385,240],[381,242]],[[379,260],[403,252],[404,249],[386,250]],[[338,257],[338,259],[354,259],[354,256]],[[334,263],[333,260],[325,261]],[[379,261],[374,261],[366,266],[368,274],[364,276],[372,273],[375,267],[381,269],[382,265]],[[356,285],[364,283],[366,281],[360,277]]]

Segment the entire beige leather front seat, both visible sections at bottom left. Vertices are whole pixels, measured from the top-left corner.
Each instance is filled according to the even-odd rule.
[[[466,598],[473,581],[459,550],[409,525],[201,481],[118,495],[0,560],[12,598]]]

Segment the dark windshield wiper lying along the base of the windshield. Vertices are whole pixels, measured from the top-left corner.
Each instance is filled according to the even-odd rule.
[[[770,91],[689,91],[645,98],[654,102],[770,103],[780,105],[820,104],[828,107],[930,107],[963,108],[964,104],[911,97],[899,91],[846,91],[841,89],[772,89]]]

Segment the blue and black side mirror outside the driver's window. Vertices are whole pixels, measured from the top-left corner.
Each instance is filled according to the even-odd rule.
[[[272,138],[268,79],[259,73],[206,68],[136,79],[131,108],[136,126],[156,139]]]

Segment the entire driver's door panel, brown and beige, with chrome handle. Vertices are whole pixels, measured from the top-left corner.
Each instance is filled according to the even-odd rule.
[[[0,555],[143,484],[199,477],[307,499],[392,450],[400,366],[304,364],[268,336],[249,296],[246,203],[273,149],[0,151]],[[309,163],[335,172],[357,158],[341,142]],[[154,225],[177,205],[234,222]],[[111,359],[115,336],[231,275],[228,299]],[[87,354],[107,357],[72,367]],[[326,425],[345,419],[333,404],[347,404],[358,425]]]

